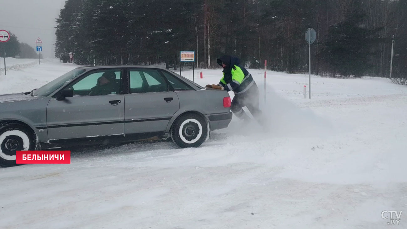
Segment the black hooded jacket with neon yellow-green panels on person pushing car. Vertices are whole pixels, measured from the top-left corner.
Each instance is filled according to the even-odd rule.
[[[222,63],[226,65],[223,68],[223,77],[218,84],[223,86],[225,90],[232,90],[235,94],[241,94],[254,84],[252,75],[240,65],[238,57],[224,55],[217,59],[217,62],[220,66]]]

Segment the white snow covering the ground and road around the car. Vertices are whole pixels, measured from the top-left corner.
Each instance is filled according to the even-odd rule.
[[[0,73],[0,94],[75,67],[16,62]],[[220,69],[200,71],[198,84],[219,82]],[[269,134],[234,117],[199,148],[75,148],[69,165],[0,168],[0,227],[382,229],[381,212],[394,210],[407,228],[406,87],[313,76],[304,99],[307,75],[268,71],[264,103],[264,71],[249,72]]]

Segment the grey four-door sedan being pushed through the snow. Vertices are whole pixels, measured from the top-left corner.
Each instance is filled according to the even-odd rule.
[[[16,151],[169,139],[198,147],[232,119],[228,92],[153,66],[76,68],[41,88],[0,95],[0,165]]]

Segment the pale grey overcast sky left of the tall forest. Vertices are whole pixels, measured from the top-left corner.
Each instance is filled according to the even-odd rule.
[[[54,57],[55,19],[66,0],[0,0],[0,30],[14,33],[35,48],[42,40],[42,55]]]

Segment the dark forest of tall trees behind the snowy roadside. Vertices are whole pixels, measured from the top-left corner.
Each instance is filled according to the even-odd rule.
[[[387,77],[393,35],[393,75],[407,74],[407,0],[67,0],[55,55],[177,69],[179,51],[194,50],[197,67],[216,67],[229,53],[249,68],[267,59],[271,70],[302,73],[309,27],[317,31],[315,74]]]

